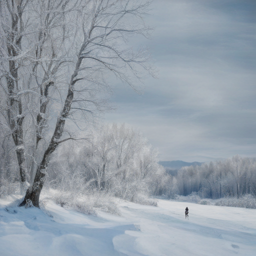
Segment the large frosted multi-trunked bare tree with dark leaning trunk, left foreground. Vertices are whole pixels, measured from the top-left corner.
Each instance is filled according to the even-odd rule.
[[[101,96],[108,88],[106,78],[110,73],[133,88],[144,70],[152,74],[147,52],[134,52],[127,47],[131,35],[148,36],[150,29],[142,19],[148,6],[147,1],[135,0],[2,1],[1,25],[7,36],[1,37],[1,78],[5,78],[1,80],[1,90],[7,88],[6,111],[22,182],[27,175],[24,119],[35,136],[37,150],[42,138],[47,142],[43,132],[53,98],[49,91],[52,95],[59,92],[56,102],[60,111],[54,131],[45,148],[38,150],[34,181],[20,205],[30,199],[39,207],[52,152],[61,142],[74,139],[70,132],[64,132],[66,122],[76,122],[78,115],[86,119],[86,113],[102,109]],[[28,115],[32,116],[30,122]],[[31,175],[35,162],[32,161]]]

